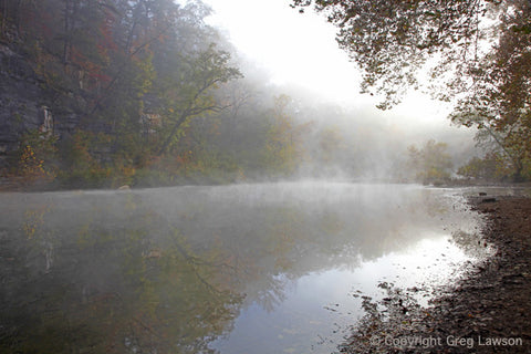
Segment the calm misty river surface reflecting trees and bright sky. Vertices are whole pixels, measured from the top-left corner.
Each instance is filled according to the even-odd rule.
[[[378,282],[456,277],[479,222],[416,185],[0,194],[0,352],[332,353]]]

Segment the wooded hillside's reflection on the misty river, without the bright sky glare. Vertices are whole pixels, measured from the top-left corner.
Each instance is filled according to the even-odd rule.
[[[459,217],[404,186],[0,198],[0,352],[12,353],[211,353],[250,304],[274,311],[296,279],[355,268]]]

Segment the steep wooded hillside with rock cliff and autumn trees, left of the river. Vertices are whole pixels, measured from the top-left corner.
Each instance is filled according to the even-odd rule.
[[[6,175],[149,186],[282,176],[301,160],[289,97],[251,104],[257,87],[201,2],[8,0],[0,14]]]

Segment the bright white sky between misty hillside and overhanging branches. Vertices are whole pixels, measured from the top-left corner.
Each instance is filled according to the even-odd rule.
[[[207,20],[232,44],[271,74],[279,85],[301,86],[320,100],[369,110],[378,102],[360,94],[361,73],[335,41],[336,29],[323,15],[292,9],[290,0],[204,0],[214,9]],[[374,108],[376,112],[376,108]],[[413,92],[383,119],[449,125],[449,107]],[[376,114],[376,113],[375,113]]]

